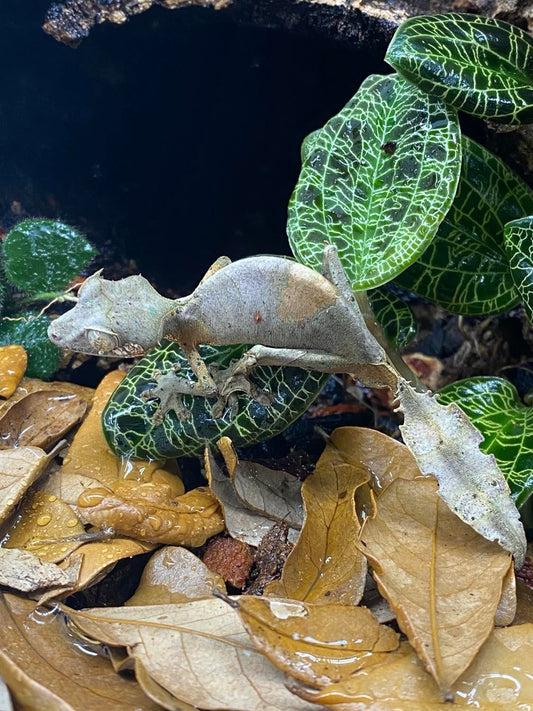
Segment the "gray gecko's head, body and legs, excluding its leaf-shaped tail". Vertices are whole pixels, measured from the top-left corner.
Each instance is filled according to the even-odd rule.
[[[337,254],[326,249],[325,271],[334,278]],[[340,274],[344,277],[342,269]],[[138,356],[162,338],[177,341],[198,383],[180,392],[229,397],[258,363],[295,365],[322,372],[350,372],[373,364],[369,384],[384,385],[386,356],[368,333],[351,290],[283,257],[216,262],[195,291],[166,299],[146,279],[87,279],[76,306],[48,331],[60,347],[100,356]],[[215,382],[198,353],[201,344],[256,343],[230,373]],[[176,379],[174,379],[176,380]],[[172,381],[174,382],[174,381]],[[237,384],[239,383],[239,384]]]

